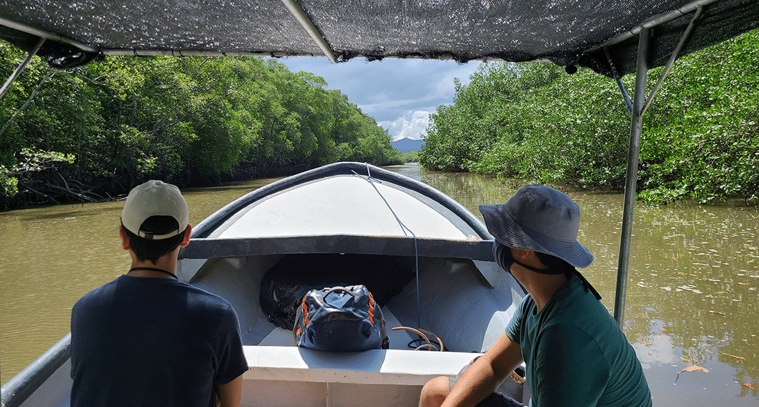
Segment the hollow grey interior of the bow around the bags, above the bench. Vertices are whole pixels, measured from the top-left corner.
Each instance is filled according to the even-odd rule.
[[[423,328],[453,352],[484,352],[503,332],[523,295],[507,273],[491,287],[474,260],[356,254],[272,254],[207,260],[191,280],[223,295],[240,318],[244,345],[292,345],[292,333],[269,320],[261,307],[262,286],[272,279],[317,286],[363,284],[382,307],[391,349],[411,349],[412,334],[392,327]],[[494,263],[493,263],[494,264]],[[180,265],[180,273],[186,273]],[[213,272],[211,271],[213,270]],[[272,277],[273,275],[273,277]],[[417,292],[419,298],[417,298]]]

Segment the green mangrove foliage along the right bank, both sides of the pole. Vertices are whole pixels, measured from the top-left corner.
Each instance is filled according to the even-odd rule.
[[[661,68],[649,72],[649,89]],[[622,82],[630,94],[635,75]],[[638,197],[759,200],[759,30],[679,58],[644,117]],[[622,190],[630,115],[614,80],[483,64],[430,115],[420,163]]]

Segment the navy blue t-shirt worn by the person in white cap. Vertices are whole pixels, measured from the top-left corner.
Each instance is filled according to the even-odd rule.
[[[120,276],[71,311],[71,405],[216,405],[247,371],[237,314],[176,279]]]

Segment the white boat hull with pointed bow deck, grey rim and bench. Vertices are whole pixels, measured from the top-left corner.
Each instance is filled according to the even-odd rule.
[[[445,194],[341,162],[259,188],[200,222],[180,252],[177,274],[222,296],[238,314],[249,367],[242,405],[417,405],[427,380],[454,377],[490,348],[524,295],[499,271],[491,248],[480,219]],[[379,263],[400,271],[378,279]],[[317,278],[342,273],[370,291],[377,280],[392,280],[379,303],[390,349],[294,346],[292,333],[270,322],[260,305],[262,281],[289,273],[283,265],[292,264]],[[430,331],[447,352],[413,350],[417,336],[392,327]],[[69,336],[61,339],[4,386],[3,402],[68,405],[69,343]],[[6,399],[6,391],[14,394]],[[527,389],[510,379],[502,391],[527,399]]]

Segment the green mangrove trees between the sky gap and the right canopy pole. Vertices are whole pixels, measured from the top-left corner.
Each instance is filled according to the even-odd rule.
[[[613,83],[549,64],[487,64],[430,116],[420,162],[584,186],[621,183],[625,111]],[[621,124],[620,124],[621,123]],[[621,158],[619,158],[621,157]]]

